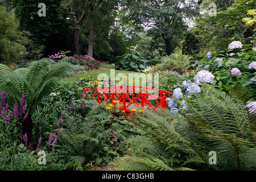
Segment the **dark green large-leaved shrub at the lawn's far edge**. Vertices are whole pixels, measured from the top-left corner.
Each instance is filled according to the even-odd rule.
[[[117,59],[118,62],[115,64],[115,68],[135,72],[142,72],[147,67],[148,62],[137,52],[118,56]]]

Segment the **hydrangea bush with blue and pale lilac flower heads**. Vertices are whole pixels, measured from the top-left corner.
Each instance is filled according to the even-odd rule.
[[[256,36],[252,39],[256,40]],[[253,44],[234,41],[220,54],[208,52],[197,63],[192,77],[184,80],[182,86],[173,91],[172,98],[167,98],[168,109],[175,115],[179,111],[187,113],[186,102],[189,97],[201,92],[203,84],[212,85],[223,92],[228,92],[230,88],[246,87],[248,92],[255,93],[256,48]],[[253,100],[247,102],[245,108],[250,107],[254,112],[256,102]]]

